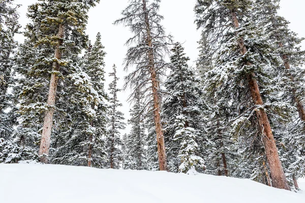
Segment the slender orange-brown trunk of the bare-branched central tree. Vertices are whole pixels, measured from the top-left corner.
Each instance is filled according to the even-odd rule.
[[[161,123],[161,109],[160,109],[160,98],[159,98],[159,81],[157,78],[156,67],[155,67],[155,58],[153,51],[153,43],[150,34],[150,26],[148,19],[148,11],[146,8],[146,0],[142,0],[143,2],[143,11],[145,12],[145,24],[146,24],[146,32],[147,32],[147,45],[150,47],[148,51],[148,60],[150,66],[150,75],[151,75],[151,88],[153,89],[153,102],[154,102],[154,119],[156,125],[157,132],[157,145],[158,145],[158,157],[159,157],[159,166],[160,171],[168,171],[167,160],[166,160],[166,151],[165,151],[165,142],[163,135],[163,127]]]

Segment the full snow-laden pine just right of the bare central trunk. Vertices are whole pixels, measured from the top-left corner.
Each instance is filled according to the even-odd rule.
[[[180,158],[180,172],[202,171],[204,161],[198,156],[198,143],[204,140],[200,137],[203,137],[201,115],[205,105],[200,98],[199,80],[188,66],[190,58],[185,56],[184,48],[177,43],[172,52],[171,73],[165,83],[168,96],[163,104],[165,135],[171,145],[167,148],[173,159]]]

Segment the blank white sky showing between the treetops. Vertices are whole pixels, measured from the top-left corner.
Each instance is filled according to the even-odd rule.
[[[15,0],[16,4],[21,4],[19,9],[19,22],[24,27],[28,22],[26,19],[27,6],[31,5],[36,0]],[[197,42],[200,40],[200,31],[196,30],[194,24],[194,12],[196,0],[163,0],[161,3],[160,14],[164,16],[162,24],[168,33],[171,33],[174,40],[184,43],[185,51],[190,56],[190,65],[195,65],[195,60],[198,56]],[[126,40],[131,36],[128,28],[123,25],[114,26],[114,20],[120,18],[120,12],[128,5],[128,0],[101,0],[101,3],[90,10],[89,22],[87,25],[87,34],[89,39],[94,42],[98,32],[101,32],[102,43],[105,46],[107,55],[106,62],[106,87],[111,82],[112,78],[108,77],[108,73],[112,71],[112,65],[115,63],[120,78],[119,85],[123,86],[123,78],[126,73],[123,71],[123,59],[127,48],[124,46]],[[284,16],[291,22],[290,28],[298,33],[299,37],[305,37],[305,1],[304,0],[282,0],[280,15]],[[23,42],[22,36],[17,36],[19,42]],[[305,42],[303,42],[305,47]],[[126,99],[129,92],[121,92],[119,99],[124,107],[121,111],[125,113],[126,118],[129,118],[129,104]],[[129,132],[129,127],[126,132]]]

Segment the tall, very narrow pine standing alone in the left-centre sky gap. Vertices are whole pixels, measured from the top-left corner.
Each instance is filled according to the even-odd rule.
[[[120,89],[117,88],[118,78],[116,77],[116,66],[113,65],[113,72],[109,74],[110,77],[113,77],[113,81],[109,84],[110,91],[110,112],[109,112],[109,123],[108,130],[109,136],[107,141],[108,146],[108,159],[110,168],[119,168],[119,162],[123,158],[123,153],[120,149],[123,146],[123,142],[120,138],[120,130],[125,129],[124,123],[124,114],[121,113],[118,108],[123,106],[118,98],[117,93]]]

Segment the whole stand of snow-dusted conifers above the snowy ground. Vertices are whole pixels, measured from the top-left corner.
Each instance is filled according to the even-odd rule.
[[[20,5],[0,0],[0,163],[202,173],[299,190],[304,38],[280,2],[197,0],[191,66],[162,25],[161,0],[129,0],[113,22],[131,32],[121,68],[105,64],[107,39],[86,33],[100,0],[37,0],[24,29]]]

